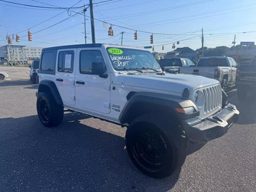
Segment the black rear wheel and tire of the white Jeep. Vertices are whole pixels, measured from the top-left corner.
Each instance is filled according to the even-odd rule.
[[[37,114],[44,126],[59,125],[63,119],[63,106],[57,105],[50,92],[38,93],[36,102]]]

